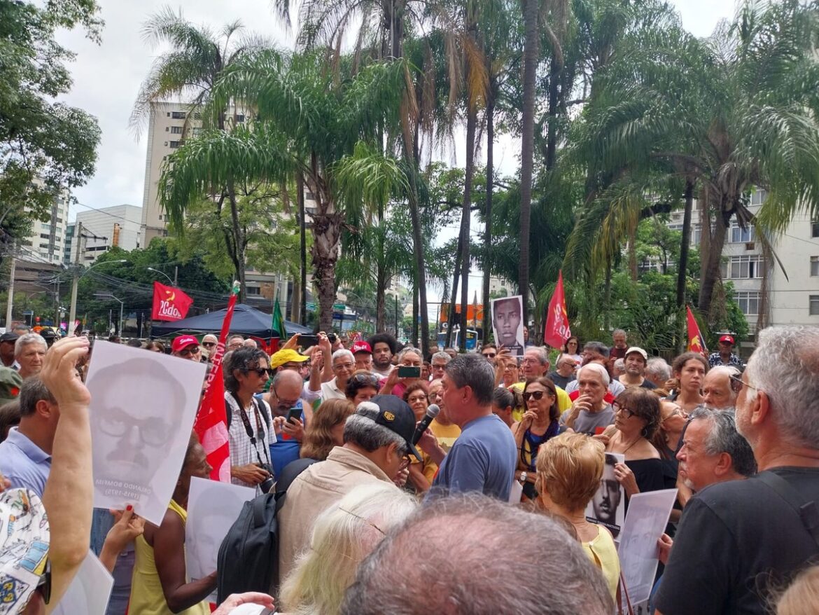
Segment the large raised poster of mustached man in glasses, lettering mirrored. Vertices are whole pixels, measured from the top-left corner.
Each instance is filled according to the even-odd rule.
[[[122,344],[94,344],[91,392],[95,508],[159,525],[179,479],[206,364]]]

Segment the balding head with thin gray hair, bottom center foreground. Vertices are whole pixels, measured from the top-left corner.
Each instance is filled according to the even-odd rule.
[[[433,499],[378,544],[341,613],[609,615],[614,605],[600,569],[558,522],[459,494]]]

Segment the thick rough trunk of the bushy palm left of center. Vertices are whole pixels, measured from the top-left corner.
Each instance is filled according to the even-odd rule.
[[[321,198],[316,194],[316,198]],[[321,203],[319,203],[319,207]],[[326,211],[326,208],[324,208]],[[333,328],[333,303],[336,300],[336,262],[342,241],[342,216],[321,213],[313,217],[313,269],[319,291],[319,330]]]

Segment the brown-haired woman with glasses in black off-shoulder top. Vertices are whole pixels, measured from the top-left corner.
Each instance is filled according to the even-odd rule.
[[[606,451],[625,455],[626,462],[614,466],[626,497],[663,489],[663,463],[651,444],[660,423],[660,400],[649,389],[631,387],[614,399],[614,425],[604,431]]]

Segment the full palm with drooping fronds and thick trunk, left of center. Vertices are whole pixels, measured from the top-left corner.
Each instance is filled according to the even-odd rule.
[[[408,71],[405,62],[380,62],[337,82],[316,53],[268,50],[235,62],[211,92],[210,114],[235,101],[256,119],[190,139],[166,160],[161,199],[171,219],[181,221],[192,198],[211,185],[231,190],[240,180],[276,184],[301,174],[315,202],[319,326],[329,330],[342,227],[409,189],[403,168],[378,145],[379,127],[398,121]]]

